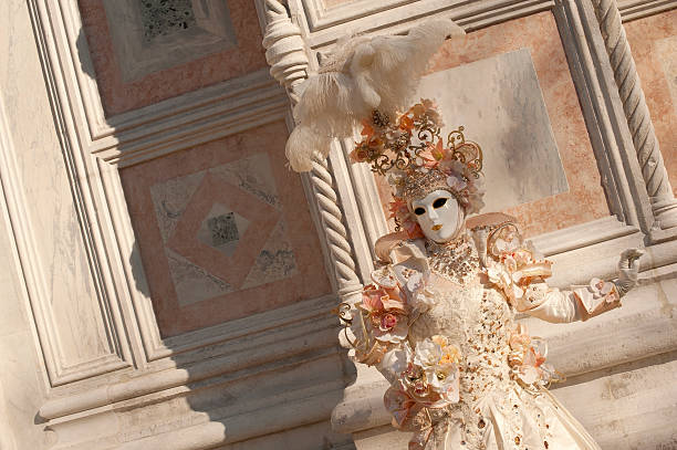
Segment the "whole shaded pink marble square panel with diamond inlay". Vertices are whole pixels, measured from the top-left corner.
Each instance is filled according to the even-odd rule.
[[[331,291],[287,135],[274,123],[121,170],[163,336]],[[205,233],[215,217],[239,229],[227,251]]]

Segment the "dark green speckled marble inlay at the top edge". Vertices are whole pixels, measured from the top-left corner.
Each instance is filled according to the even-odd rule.
[[[191,0],[142,0],[140,11],[146,42],[195,27],[191,3]]]

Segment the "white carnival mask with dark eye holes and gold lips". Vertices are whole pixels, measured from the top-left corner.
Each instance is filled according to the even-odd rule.
[[[412,211],[425,237],[438,243],[455,239],[465,219],[464,210],[456,198],[444,189],[413,200]]]

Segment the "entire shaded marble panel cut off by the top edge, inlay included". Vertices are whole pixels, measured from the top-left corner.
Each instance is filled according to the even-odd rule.
[[[249,0],[79,0],[79,39],[88,45],[107,116],[267,66]]]

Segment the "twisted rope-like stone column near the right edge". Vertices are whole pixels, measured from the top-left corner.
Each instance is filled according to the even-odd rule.
[[[592,0],[592,2],[623,101],[623,109],[633,136],[656,224],[660,229],[677,227],[677,200],[663,163],[618,7],[615,0]]]

